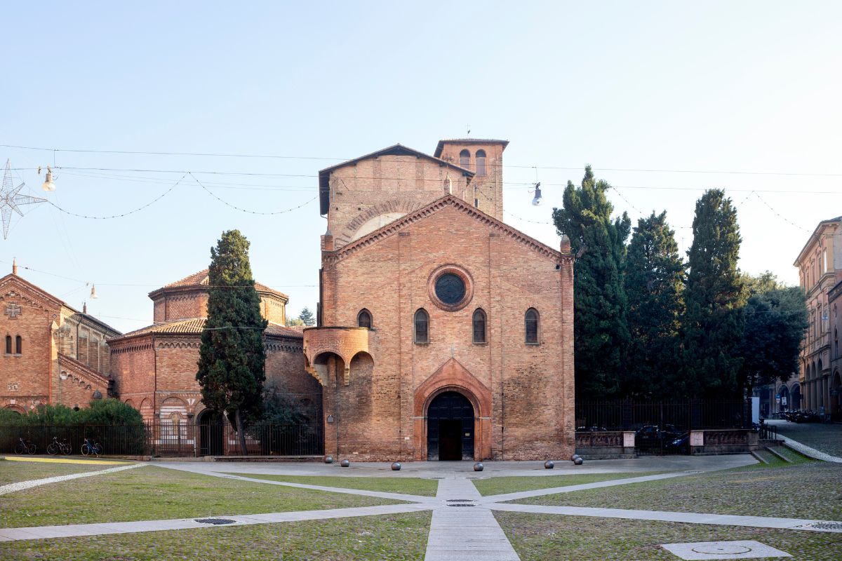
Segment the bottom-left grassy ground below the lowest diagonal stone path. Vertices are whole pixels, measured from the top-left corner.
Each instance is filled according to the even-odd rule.
[[[263,487],[265,489],[265,486]],[[421,561],[429,512],[111,536],[0,542],[4,561]]]

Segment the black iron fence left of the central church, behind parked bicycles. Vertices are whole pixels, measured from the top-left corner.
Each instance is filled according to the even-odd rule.
[[[0,453],[13,453],[20,439],[35,444],[36,454],[47,453],[56,438],[81,451],[85,439],[99,442],[103,454],[116,456],[241,455],[242,439],[230,425],[155,422],[134,425],[0,426]],[[321,426],[258,424],[245,430],[248,455],[322,455]]]

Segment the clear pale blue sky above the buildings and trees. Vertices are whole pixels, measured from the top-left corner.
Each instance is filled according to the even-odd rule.
[[[135,209],[185,170],[265,212],[311,201],[317,171],[337,159],[396,142],[432,152],[470,124],[474,137],[510,141],[505,218],[541,241],[556,246],[557,234],[534,222],[550,222],[562,184],[590,163],[635,222],[666,209],[683,250],[695,199],[726,188],[739,204],[741,267],[797,283],[791,263],[807,236],[842,214],[842,4],[584,4],[9,4],[0,144],[301,157],[3,147],[0,158],[19,168],[24,193],[78,214]],[[179,172],[65,169],[44,193],[34,168],[54,157],[66,168]],[[837,175],[710,173],[722,171]],[[536,173],[541,208],[526,190]],[[127,218],[25,210],[0,241],[0,268],[18,257],[77,279],[21,271],[77,307],[84,282],[96,283],[88,310],[122,331],[151,323],[147,293],[206,267],[231,228],[252,243],[255,277],[290,295],[291,315],[317,301],[316,201],[245,214],[188,176]]]

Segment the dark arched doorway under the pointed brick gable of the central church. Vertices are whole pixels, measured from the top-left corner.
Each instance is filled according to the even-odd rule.
[[[427,459],[474,458],[474,410],[462,394],[446,391],[427,408]]]

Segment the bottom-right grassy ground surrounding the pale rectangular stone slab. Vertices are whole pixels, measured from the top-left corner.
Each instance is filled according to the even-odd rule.
[[[756,540],[792,555],[792,561],[838,561],[842,534],[725,527],[584,516],[495,512],[521,561],[676,561],[661,543]]]

